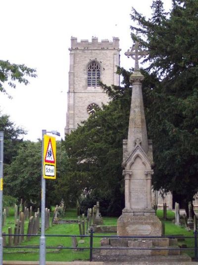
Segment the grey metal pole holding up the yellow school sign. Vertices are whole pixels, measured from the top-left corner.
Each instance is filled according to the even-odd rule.
[[[46,179],[44,178],[44,134],[42,130],[42,173],[41,173],[41,237],[40,237],[40,265],[46,265],[46,237],[45,237],[45,208],[46,208]]]

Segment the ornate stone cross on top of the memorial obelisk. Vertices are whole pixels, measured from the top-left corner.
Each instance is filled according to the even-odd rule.
[[[124,54],[127,55],[128,58],[129,58],[129,56],[131,56],[135,60],[134,71],[139,71],[140,68],[139,68],[138,60],[140,60],[142,57],[146,57],[146,55],[148,55],[148,52],[143,51],[140,47],[140,43],[137,41],[133,44],[132,47],[130,47],[130,49],[131,49],[131,51],[128,50]]]

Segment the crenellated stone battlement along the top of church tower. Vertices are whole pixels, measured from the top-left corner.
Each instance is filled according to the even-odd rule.
[[[89,42],[89,40],[81,40],[78,42],[77,38],[71,37],[71,48],[69,48],[70,51],[74,49],[112,49],[112,50],[118,50],[119,49],[119,38],[113,37],[113,41],[109,40],[101,40],[101,42],[98,41],[98,38],[94,37],[92,38],[92,42]],[[119,49],[120,51],[120,49]]]

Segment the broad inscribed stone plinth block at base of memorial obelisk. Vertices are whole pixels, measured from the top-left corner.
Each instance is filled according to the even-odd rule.
[[[161,236],[162,225],[155,215],[134,215],[123,212],[117,221],[119,236]]]

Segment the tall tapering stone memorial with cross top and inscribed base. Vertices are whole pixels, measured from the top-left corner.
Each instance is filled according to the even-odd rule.
[[[118,218],[119,236],[161,236],[161,222],[151,208],[152,143],[148,140],[139,59],[148,53],[136,42],[125,55],[135,59],[128,139],[123,140],[125,208]]]

